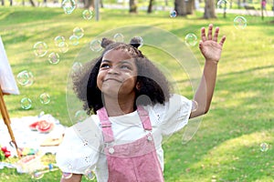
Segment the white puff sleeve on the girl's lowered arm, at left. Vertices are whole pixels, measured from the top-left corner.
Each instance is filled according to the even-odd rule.
[[[81,123],[68,127],[56,155],[60,170],[85,174],[87,169],[94,169],[100,156],[101,139],[100,128],[91,116]]]

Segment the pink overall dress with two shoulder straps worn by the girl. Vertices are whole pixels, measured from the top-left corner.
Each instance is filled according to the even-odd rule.
[[[142,106],[137,107],[147,135],[132,143],[112,145],[114,141],[111,122],[104,107],[97,111],[106,147],[104,148],[109,168],[109,182],[162,182],[163,171],[156,154],[152,124],[148,112]]]

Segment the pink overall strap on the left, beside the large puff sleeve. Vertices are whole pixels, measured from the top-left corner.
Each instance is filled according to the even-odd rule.
[[[109,119],[106,108],[101,107],[99,110],[96,111],[96,113],[100,119],[100,126],[102,129],[104,142],[110,143],[110,142],[114,141],[114,136],[113,136],[113,132],[111,129],[111,121]]]

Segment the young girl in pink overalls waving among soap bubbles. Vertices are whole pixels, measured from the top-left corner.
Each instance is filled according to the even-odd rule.
[[[226,40],[217,43],[218,33],[213,25],[207,35],[201,29],[205,67],[193,100],[170,93],[165,76],[138,50],[138,39],[127,45],[104,38],[101,56],[73,76],[90,117],[69,127],[59,146],[61,181],[81,181],[90,171],[99,182],[163,181],[163,136],[209,109]]]

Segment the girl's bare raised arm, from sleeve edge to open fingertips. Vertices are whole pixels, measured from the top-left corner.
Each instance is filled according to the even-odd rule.
[[[214,93],[217,64],[221,57],[226,36],[223,36],[220,43],[217,43],[219,28],[216,27],[215,34],[213,36],[212,30],[213,25],[208,25],[208,33],[206,36],[205,27],[202,27],[201,29],[202,40],[199,43],[199,48],[202,55],[205,57],[205,66],[200,85],[198,86],[194,96],[194,103],[196,106],[191,112],[190,117],[201,116],[207,113]]]

